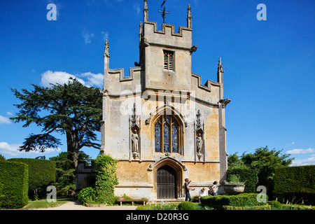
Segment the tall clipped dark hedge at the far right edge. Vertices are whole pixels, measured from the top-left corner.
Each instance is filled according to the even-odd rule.
[[[315,204],[315,165],[276,168],[273,195],[284,203]]]

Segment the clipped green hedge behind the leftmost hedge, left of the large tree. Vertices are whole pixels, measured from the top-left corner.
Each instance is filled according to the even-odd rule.
[[[7,161],[23,162],[29,167],[29,196],[34,195],[34,190],[38,190],[38,195],[42,197],[46,194],[47,186],[52,185],[56,179],[56,164],[50,160],[38,160],[27,158],[14,158]]]

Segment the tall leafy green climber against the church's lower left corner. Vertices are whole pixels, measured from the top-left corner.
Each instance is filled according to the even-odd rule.
[[[97,192],[97,203],[114,204],[114,186],[118,184],[115,174],[118,160],[111,158],[110,155],[99,155],[95,159],[95,171],[97,178],[95,189]]]

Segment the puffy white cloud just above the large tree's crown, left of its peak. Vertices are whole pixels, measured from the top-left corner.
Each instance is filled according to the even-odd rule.
[[[69,73],[66,73],[64,71],[45,71],[41,74],[41,85],[43,87],[50,87],[50,83],[52,84],[64,84],[68,83],[69,78],[76,78],[76,76],[73,76]],[[85,81],[83,81],[80,78],[77,78],[77,80],[85,85]]]

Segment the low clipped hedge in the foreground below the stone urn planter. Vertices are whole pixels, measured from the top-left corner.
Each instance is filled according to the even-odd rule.
[[[239,195],[207,196],[201,197],[200,202],[209,207],[211,206],[253,207],[266,205],[267,199],[266,203],[258,202],[257,195],[258,194],[255,193],[243,193]]]

